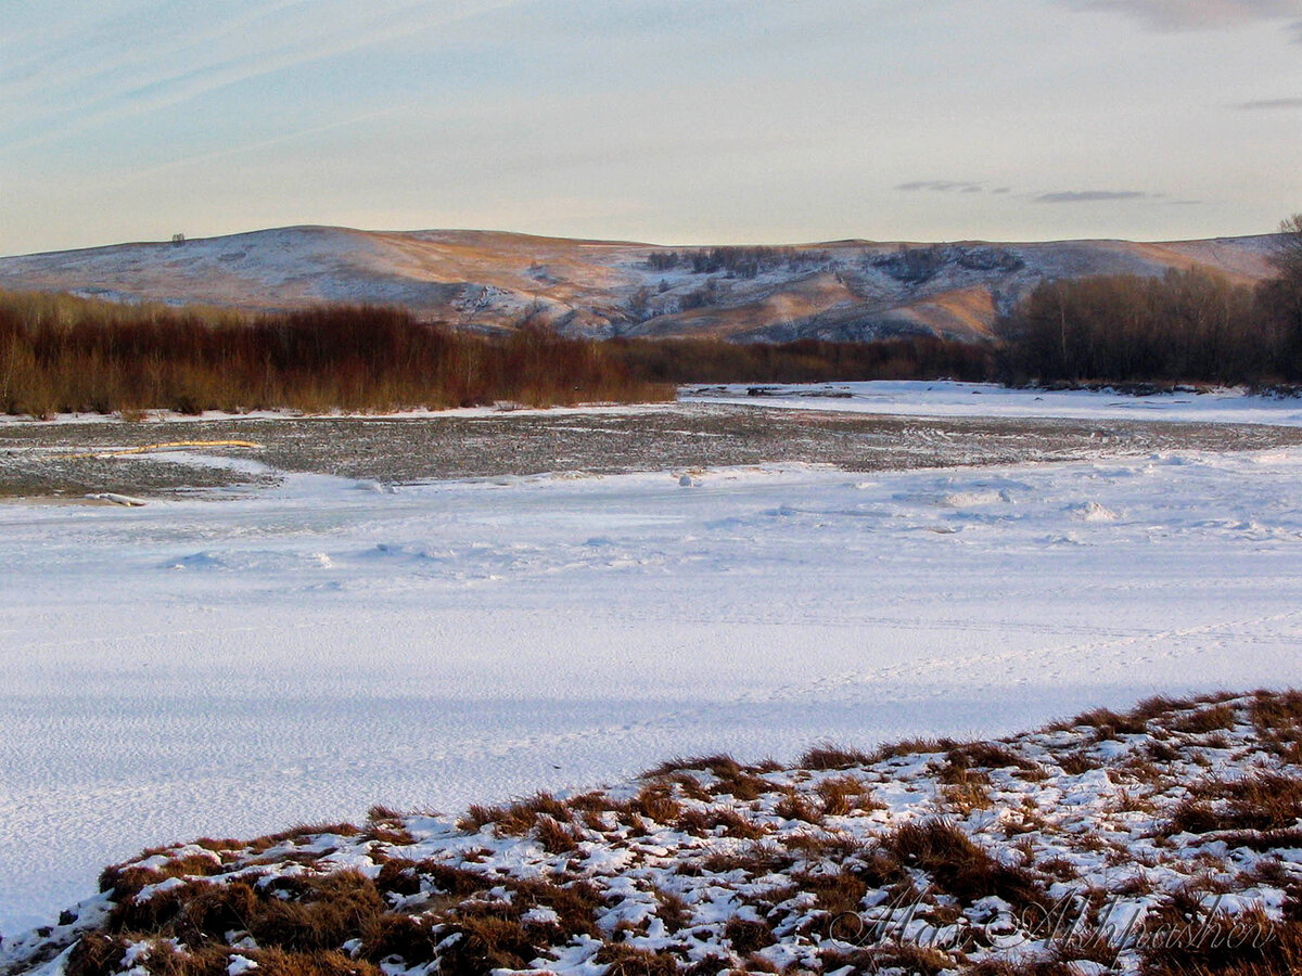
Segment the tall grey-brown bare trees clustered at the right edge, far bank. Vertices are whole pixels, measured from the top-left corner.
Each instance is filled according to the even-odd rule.
[[[1043,282],[996,325],[1000,379],[1297,383],[1297,294],[1282,278],[1251,288],[1206,271]]]

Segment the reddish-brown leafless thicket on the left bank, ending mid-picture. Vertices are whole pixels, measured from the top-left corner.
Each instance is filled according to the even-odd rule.
[[[600,342],[452,332],[408,312],[211,310],[0,293],[0,411],[397,410],[668,400]]]

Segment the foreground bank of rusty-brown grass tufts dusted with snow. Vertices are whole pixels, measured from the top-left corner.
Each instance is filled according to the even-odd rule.
[[[461,817],[376,807],[146,851],[0,966],[1282,975],[1299,734],[1299,692],[1152,698],[999,742],[682,759]]]

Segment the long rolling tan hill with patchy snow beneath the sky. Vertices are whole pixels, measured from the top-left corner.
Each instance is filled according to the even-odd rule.
[[[534,320],[590,336],[975,337],[1046,277],[1160,275],[1202,264],[1254,281],[1268,273],[1273,241],[836,241],[733,249],[719,267],[711,249],[297,226],[0,258],[0,288],[245,310],[395,303],[458,327]]]

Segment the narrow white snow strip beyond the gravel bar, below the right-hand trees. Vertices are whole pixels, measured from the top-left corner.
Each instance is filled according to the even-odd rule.
[[[750,390],[759,392],[759,396],[751,396]],[[678,398],[687,403],[740,403],[896,416],[1182,420],[1288,427],[1302,424],[1302,398],[1258,396],[1242,389],[1155,393],[1137,397],[1111,390],[1009,389],[992,383],[880,380],[695,385],[685,386]]]

